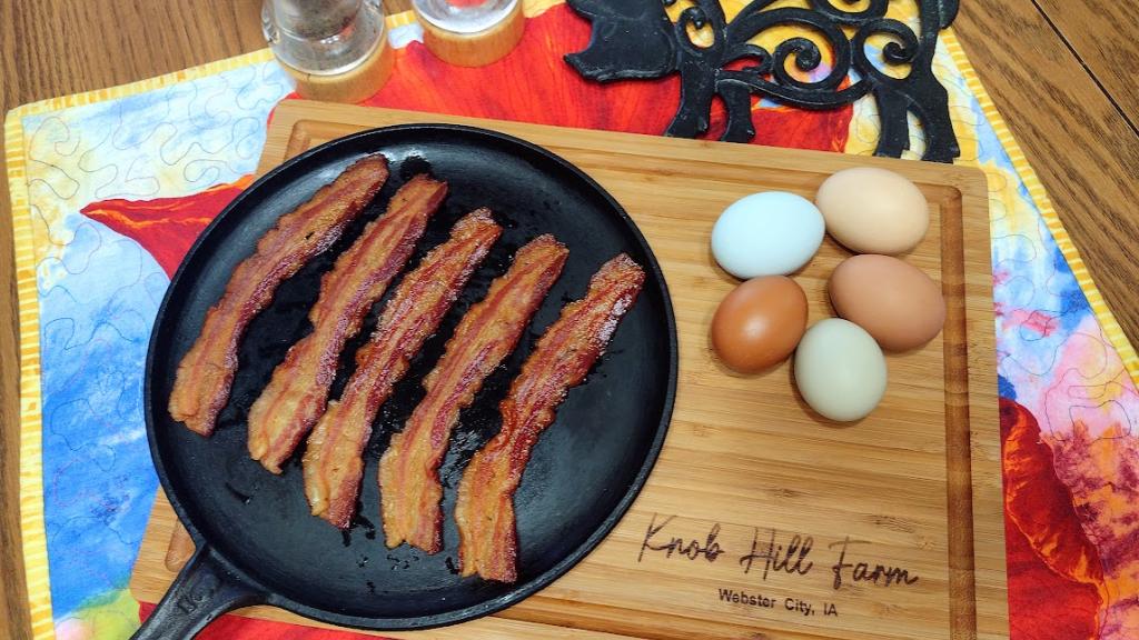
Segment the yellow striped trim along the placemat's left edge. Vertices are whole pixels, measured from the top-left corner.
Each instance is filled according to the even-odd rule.
[[[40,448],[40,301],[35,285],[35,249],[27,206],[27,172],[21,110],[3,123],[5,161],[11,196],[16,257],[16,301],[19,319],[19,531],[32,637],[54,639],[51,589],[48,582],[48,539],[43,527],[43,458]]]

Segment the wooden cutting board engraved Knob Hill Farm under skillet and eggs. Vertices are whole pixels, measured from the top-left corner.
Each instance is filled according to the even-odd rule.
[[[259,173],[362,129],[449,122],[502,131],[566,157],[612,192],[661,260],[677,312],[680,381],[649,482],[605,542],[567,575],[494,616],[394,638],[1007,638],[997,366],[984,175],[908,161],[559,129],[286,101]],[[929,233],[906,260],[942,282],[943,334],[888,355],[880,407],[850,426],[796,395],[785,363],[739,376],[708,348],[737,284],[712,260],[716,215],[764,190],[812,198],[831,173],[882,166],[929,202]],[[811,322],[833,315],[827,238],[795,279]],[[188,544],[163,495],[131,589],[156,602]],[[522,541],[525,544],[525,541]],[[167,564],[170,566],[167,566]],[[240,615],[318,624],[279,609]]]

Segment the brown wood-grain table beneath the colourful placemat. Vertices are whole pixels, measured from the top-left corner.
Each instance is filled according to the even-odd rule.
[[[400,10],[408,0],[385,0]],[[1139,339],[1139,0],[962,0],[956,27],[1126,335]],[[0,104],[264,47],[260,0],[2,0]],[[142,26],[149,25],[149,26]],[[159,26],[161,25],[161,26]],[[16,292],[0,184],[0,638],[27,634],[17,512]]]

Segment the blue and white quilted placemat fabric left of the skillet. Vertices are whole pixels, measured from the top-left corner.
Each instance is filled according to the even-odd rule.
[[[142,416],[150,326],[169,279],[134,240],[79,213],[110,198],[199,192],[252,173],[292,81],[276,63],[26,116],[36,265],[43,506],[52,614],[126,586],[157,479]],[[56,159],[52,159],[56,158]]]

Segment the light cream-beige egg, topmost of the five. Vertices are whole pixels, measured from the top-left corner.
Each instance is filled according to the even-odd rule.
[[[855,253],[906,253],[929,229],[925,196],[904,177],[885,169],[839,171],[819,187],[814,203],[827,232]]]

